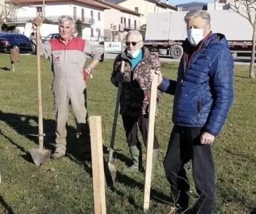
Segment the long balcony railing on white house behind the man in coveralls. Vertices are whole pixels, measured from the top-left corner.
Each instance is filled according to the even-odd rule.
[[[52,22],[58,22],[58,17],[60,16],[46,16],[46,19],[51,20]],[[82,17],[82,16],[72,16],[74,20],[76,21],[77,19],[80,19],[83,23],[87,23],[89,25],[93,25],[95,20],[92,18],[88,17]],[[26,23],[26,22],[31,22],[34,17],[28,16],[28,17],[12,17],[12,18],[7,18],[6,22],[8,23]]]

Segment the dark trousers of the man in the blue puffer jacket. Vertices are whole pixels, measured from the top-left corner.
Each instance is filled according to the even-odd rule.
[[[183,210],[188,207],[189,184],[185,163],[192,161],[195,189],[199,198],[194,205],[194,213],[210,214],[214,204],[214,163],[211,146],[201,145],[201,128],[188,128],[174,125],[168,150],[164,160],[165,175],[171,185],[172,203]]]

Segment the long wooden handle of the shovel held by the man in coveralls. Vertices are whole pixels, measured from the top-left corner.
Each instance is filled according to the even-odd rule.
[[[43,108],[42,108],[42,87],[41,87],[41,42],[39,27],[36,28],[36,62],[37,62],[37,89],[38,89],[38,132],[39,149],[44,146]]]

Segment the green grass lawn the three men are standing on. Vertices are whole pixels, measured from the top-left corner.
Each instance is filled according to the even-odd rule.
[[[100,64],[89,80],[89,115],[101,115],[104,151],[109,147],[116,88],[110,83],[112,60]],[[177,64],[162,63],[164,76],[176,78]],[[12,73],[10,56],[0,55],[0,213],[93,213],[91,164],[76,158],[75,123],[68,121],[69,154],[47,161],[41,167],[31,162],[27,151],[37,148],[37,77],[35,56],[21,56]],[[42,60],[43,117],[45,142],[54,140],[54,109],[49,62]],[[216,167],[215,213],[249,213],[256,208],[256,82],[247,78],[248,66],[235,66],[235,99],[224,130],[216,138],[213,154]],[[163,160],[172,123],[173,97],[164,94],[156,134],[160,155],[148,213],[168,213],[163,200],[170,186]],[[117,122],[115,148],[123,152],[113,161],[117,168],[114,188],[106,187],[107,213],[143,213],[144,177],[124,173],[129,160],[121,118]],[[144,154],[146,150],[144,148]],[[187,165],[191,180],[191,167]],[[191,180],[191,186],[193,183]],[[192,196],[194,193],[192,191]]]

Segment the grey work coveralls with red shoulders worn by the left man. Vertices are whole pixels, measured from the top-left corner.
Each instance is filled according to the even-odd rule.
[[[33,36],[30,40],[35,51],[36,40]],[[44,43],[41,41],[41,56],[49,58],[53,72],[52,91],[56,116],[55,152],[66,152],[69,105],[75,117],[77,138],[85,146],[86,141],[90,142],[90,139],[83,69],[86,58],[103,61],[103,52],[87,40],[72,37],[66,45],[61,39],[50,39]],[[84,148],[82,147],[80,151],[83,152]]]

